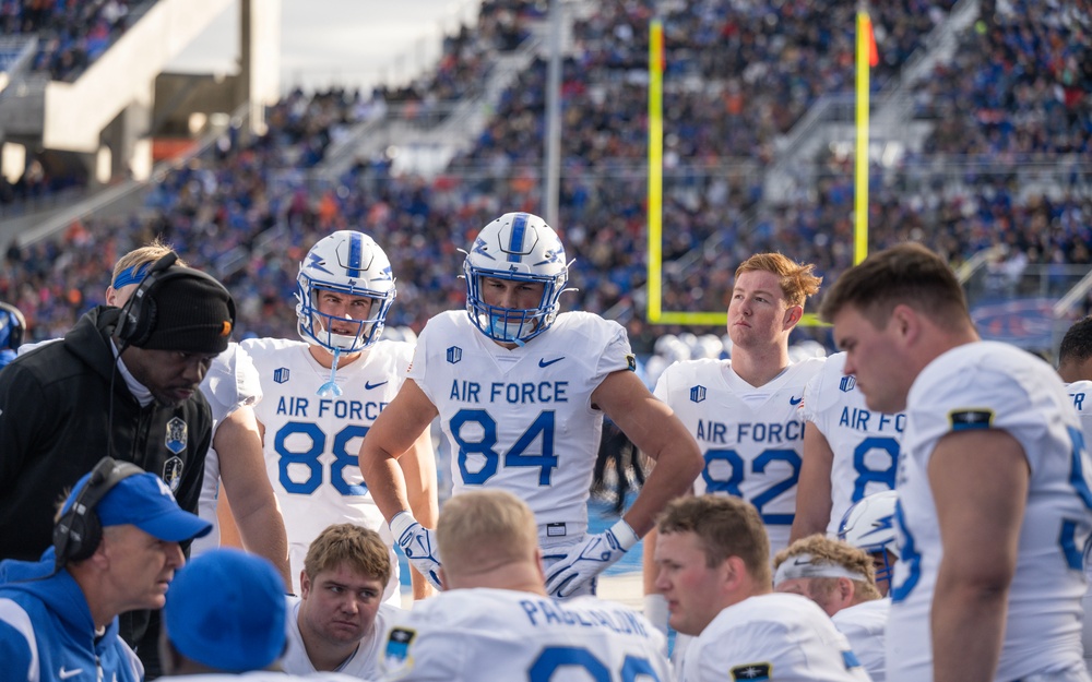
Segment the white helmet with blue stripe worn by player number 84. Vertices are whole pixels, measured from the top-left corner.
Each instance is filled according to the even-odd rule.
[[[483,334],[523,345],[554,324],[569,280],[565,248],[546,222],[530,213],[506,213],[478,232],[466,260],[466,312]],[[485,302],[482,278],[543,285],[538,306],[510,309]]]

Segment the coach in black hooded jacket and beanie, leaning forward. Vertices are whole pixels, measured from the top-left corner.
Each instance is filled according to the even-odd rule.
[[[96,308],[0,370],[0,559],[37,560],[57,503],[107,454],[158,475],[197,513],[212,433],[198,386],[227,347],[235,309],[212,277],[166,272],[135,306]],[[121,626],[151,679],[157,619],[149,627],[149,612],[134,612]]]

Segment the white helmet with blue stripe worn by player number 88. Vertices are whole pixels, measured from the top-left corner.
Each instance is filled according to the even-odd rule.
[[[354,334],[334,334],[333,315],[319,312],[316,290],[330,290],[375,299],[367,320],[339,319],[355,323]],[[296,331],[300,338],[327,350],[358,352],[379,340],[387,313],[394,302],[391,262],[376,241],[363,232],[339,230],[311,247],[296,277]]]

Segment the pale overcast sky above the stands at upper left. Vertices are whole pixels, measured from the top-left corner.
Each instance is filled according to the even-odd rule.
[[[281,0],[281,91],[332,84],[364,89],[404,83],[434,63],[444,33],[477,15],[480,0]],[[170,64],[230,71],[238,55],[238,3]]]

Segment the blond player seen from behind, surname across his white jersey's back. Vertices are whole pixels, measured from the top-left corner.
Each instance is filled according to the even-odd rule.
[[[663,635],[622,605],[546,596],[538,521],[505,490],[448,500],[437,528],[444,591],[385,637],[384,682],[668,682]]]

